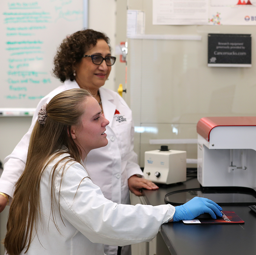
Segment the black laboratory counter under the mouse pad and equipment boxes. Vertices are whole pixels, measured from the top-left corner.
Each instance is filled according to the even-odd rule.
[[[165,204],[167,193],[200,188],[196,178],[184,183],[160,185],[159,190],[143,190],[148,205]],[[256,254],[256,213],[248,205],[222,205],[234,211],[244,224],[185,225],[182,221],[163,224],[157,235],[157,255]]]

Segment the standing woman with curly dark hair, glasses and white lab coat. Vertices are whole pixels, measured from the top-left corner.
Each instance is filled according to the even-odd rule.
[[[111,56],[109,38],[92,29],[77,31],[67,36],[54,57],[53,73],[64,84],[45,96],[37,105],[29,131],[5,159],[4,172],[0,179],[0,212],[8,199],[13,197],[13,187],[23,172],[27,157],[30,134],[41,106],[64,90],[88,89],[98,101],[104,117],[110,121],[106,127],[109,143],[92,150],[85,160],[92,181],[104,196],[118,204],[130,204],[129,189],[137,196],[140,190],[158,189],[157,185],[143,178],[133,151],[134,126],[132,112],[126,102],[109,89],[103,88],[115,63]],[[122,248],[122,255],[130,254],[129,247]],[[118,247],[105,246],[107,255],[116,255]]]

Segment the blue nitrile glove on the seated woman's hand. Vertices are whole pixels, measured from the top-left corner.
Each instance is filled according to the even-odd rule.
[[[192,220],[203,213],[209,213],[213,219],[216,219],[216,215],[222,217],[221,211],[222,208],[212,200],[194,197],[186,204],[175,207],[173,221]]]

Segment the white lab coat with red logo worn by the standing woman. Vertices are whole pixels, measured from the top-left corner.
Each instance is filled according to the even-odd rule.
[[[14,185],[25,168],[30,134],[37,121],[37,112],[41,106],[48,103],[58,93],[72,88],[79,88],[77,82],[67,80],[39,102],[28,132],[4,161],[4,172],[0,178],[1,192],[13,196]],[[101,188],[107,199],[118,204],[129,204],[127,180],[134,174],[143,176],[137,164],[137,154],[133,151],[132,112],[116,92],[100,88],[99,93],[104,116],[110,121],[110,124],[106,126],[109,143],[105,147],[92,150],[84,164],[92,181]],[[116,255],[117,247],[106,248],[105,252],[108,255]]]

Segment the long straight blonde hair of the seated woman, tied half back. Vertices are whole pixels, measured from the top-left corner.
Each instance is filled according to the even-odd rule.
[[[15,185],[10,206],[7,233],[4,245],[9,255],[26,252],[36,232],[40,215],[40,180],[47,165],[62,153],[69,153],[67,159],[81,162],[81,150],[70,136],[71,125],[79,125],[84,113],[82,103],[91,96],[85,89],[70,89],[53,97],[46,107],[45,124],[36,122],[32,131],[25,170]],[[67,150],[61,150],[63,148]],[[56,151],[58,151],[56,153]],[[53,155],[53,156],[52,156]],[[50,160],[49,160],[50,159]],[[68,161],[68,162],[69,162]],[[54,203],[54,172],[51,173],[51,208]],[[67,163],[67,162],[66,162]],[[53,212],[51,212],[53,213]],[[55,224],[56,226],[56,224]],[[57,227],[57,226],[56,226]]]

